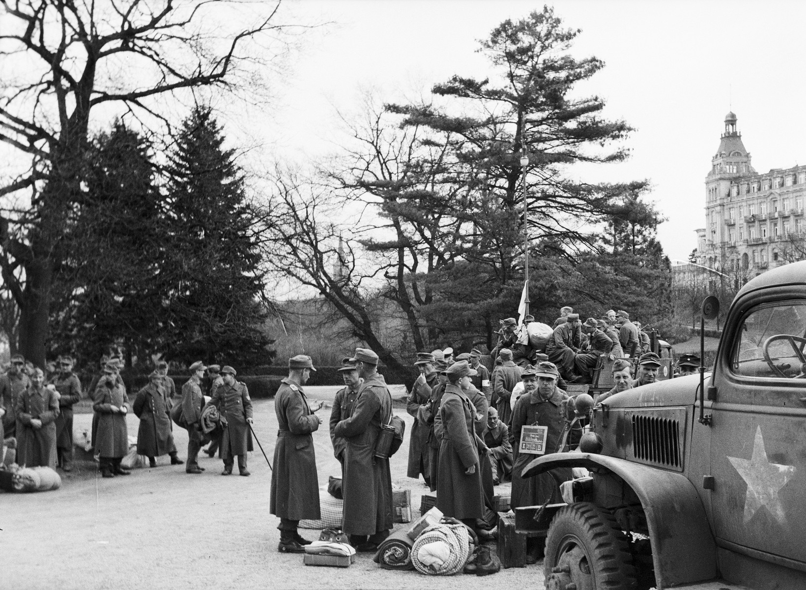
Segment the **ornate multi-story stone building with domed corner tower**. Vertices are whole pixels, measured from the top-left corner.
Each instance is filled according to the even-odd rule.
[[[705,177],[705,226],[696,230],[696,263],[744,282],[803,258],[804,200],[806,166],[756,172],[736,129],[736,115],[728,113]]]

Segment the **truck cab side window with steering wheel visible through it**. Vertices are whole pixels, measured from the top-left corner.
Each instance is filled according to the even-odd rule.
[[[761,305],[745,316],[740,335],[733,372],[806,378],[806,302]]]

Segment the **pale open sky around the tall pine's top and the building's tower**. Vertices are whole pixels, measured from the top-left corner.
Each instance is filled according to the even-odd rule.
[[[580,90],[605,98],[605,116],[636,131],[623,164],[571,168],[585,181],[647,178],[668,219],[659,230],[672,259],[696,247],[704,225],[704,178],[729,110],[758,172],[806,164],[806,2],[555,2],[582,29],[572,53],[605,61]],[[300,160],[334,151],[336,110],[355,110],[361,89],[389,101],[452,74],[484,76],[476,53],[502,20],[535,2],[297,0],[287,16],[333,24],[305,35],[275,108],[252,132]],[[258,131],[259,130],[259,131]]]

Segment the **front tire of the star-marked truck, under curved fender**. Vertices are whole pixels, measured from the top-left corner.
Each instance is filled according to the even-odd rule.
[[[589,502],[564,506],[555,514],[543,570],[546,590],[638,587],[629,538],[612,513]]]

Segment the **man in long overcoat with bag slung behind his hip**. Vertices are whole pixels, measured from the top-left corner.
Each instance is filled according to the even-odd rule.
[[[344,517],[342,529],[358,551],[376,551],[393,526],[392,474],[389,459],[375,455],[381,427],[392,418],[392,394],[377,372],[378,355],[356,348],[350,359],[364,379],[350,418],[336,425],[347,439],[344,453]]]

